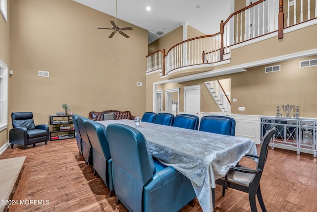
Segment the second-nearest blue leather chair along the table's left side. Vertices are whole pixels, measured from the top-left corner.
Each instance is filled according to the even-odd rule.
[[[94,172],[104,181],[106,187],[111,191],[109,196],[113,196],[113,183],[111,171],[111,156],[106,137],[106,127],[96,121],[87,120],[85,127],[89,141],[93,149]]]

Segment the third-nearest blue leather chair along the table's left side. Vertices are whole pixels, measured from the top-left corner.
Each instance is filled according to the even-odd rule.
[[[92,152],[92,146],[89,141],[87,131],[86,131],[86,126],[85,122],[87,122],[89,119],[83,117],[83,116],[78,116],[77,117],[77,125],[78,129],[80,132],[81,136],[81,149],[83,156],[85,158],[86,164],[93,165],[93,152]]]

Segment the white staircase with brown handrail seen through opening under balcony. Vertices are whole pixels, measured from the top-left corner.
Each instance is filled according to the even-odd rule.
[[[219,80],[204,82],[205,86],[208,88],[213,100],[219,107],[220,111],[224,116],[229,116],[231,113],[231,102],[229,97],[223,90]]]

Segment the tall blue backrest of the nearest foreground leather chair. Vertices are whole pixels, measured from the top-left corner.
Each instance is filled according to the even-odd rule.
[[[122,124],[108,125],[106,134],[115,195],[129,211],[142,211],[143,187],[156,172],[146,140],[138,130]]]

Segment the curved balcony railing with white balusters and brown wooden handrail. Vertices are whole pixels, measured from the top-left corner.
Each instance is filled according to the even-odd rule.
[[[291,2],[294,4],[291,5]],[[275,31],[281,39],[284,26],[317,17],[317,0],[287,0],[287,3],[286,7],[283,0],[252,3],[221,21],[218,33],[182,41],[171,47],[166,55],[165,50],[148,55],[146,72],[160,69],[160,75],[165,75],[182,67],[217,63],[224,60],[224,54],[230,53],[232,45]],[[284,12],[287,15],[285,23]]]

